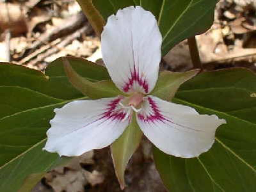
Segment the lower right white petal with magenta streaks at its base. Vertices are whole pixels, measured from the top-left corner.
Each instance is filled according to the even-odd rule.
[[[185,158],[208,151],[214,143],[216,129],[226,123],[216,115],[200,115],[194,108],[153,96],[144,98],[137,121],[156,147]]]

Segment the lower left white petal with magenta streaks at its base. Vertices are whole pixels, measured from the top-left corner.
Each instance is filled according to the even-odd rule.
[[[44,149],[60,156],[79,156],[110,145],[129,124],[130,112],[118,104],[121,100],[79,100],[55,109]]]

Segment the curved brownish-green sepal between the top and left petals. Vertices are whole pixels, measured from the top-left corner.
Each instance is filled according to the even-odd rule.
[[[103,80],[99,82],[91,82],[86,78],[79,76],[70,66],[67,59],[63,58],[64,69],[70,83],[84,95],[92,99],[100,99],[107,97],[116,97],[123,94],[111,80]]]

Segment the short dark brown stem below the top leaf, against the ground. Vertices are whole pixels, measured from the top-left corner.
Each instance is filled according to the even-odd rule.
[[[197,48],[197,44],[196,44],[195,36],[188,38],[188,47],[189,47],[189,52],[190,52],[190,56],[191,56],[191,60],[192,60],[194,68],[203,69],[203,66],[202,66],[202,63],[200,60],[200,56],[199,56],[199,52],[198,52],[198,48]]]

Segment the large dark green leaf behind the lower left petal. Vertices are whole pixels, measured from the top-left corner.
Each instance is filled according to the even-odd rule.
[[[67,59],[87,80],[110,78],[106,68],[82,59]],[[20,65],[0,64],[0,191],[14,192],[21,186],[21,191],[29,191],[38,174],[66,161],[42,148],[53,109],[79,99],[87,97],[69,83],[62,60],[50,64],[45,75]]]

